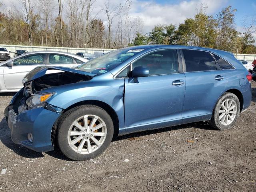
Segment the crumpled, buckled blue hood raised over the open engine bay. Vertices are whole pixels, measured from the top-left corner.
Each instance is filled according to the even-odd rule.
[[[23,78],[22,83],[25,84],[26,82],[30,82],[32,80],[35,80],[37,78],[40,78],[46,74],[47,70],[59,70],[59,71],[66,71],[66,72],[71,72],[71,73],[76,73],[76,74],[81,74],[85,76],[96,76],[94,73],[90,72],[85,72],[78,70],[76,68],[68,68],[68,67],[55,67],[55,66],[39,66],[34,68],[34,70],[30,71],[26,76]]]

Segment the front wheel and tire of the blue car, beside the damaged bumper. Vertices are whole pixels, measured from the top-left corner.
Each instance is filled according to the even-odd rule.
[[[113,134],[112,119],[104,109],[81,105],[62,115],[57,128],[57,141],[65,156],[81,161],[102,154]]]

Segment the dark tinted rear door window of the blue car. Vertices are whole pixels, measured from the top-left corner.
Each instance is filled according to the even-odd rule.
[[[183,49],[182,52],[187,72],[212,71],[217,69],[214,58],[207,51]]]

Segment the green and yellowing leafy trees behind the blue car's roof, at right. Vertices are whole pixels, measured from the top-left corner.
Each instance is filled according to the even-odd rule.
[[[238,32],[234,24],[236,9],[228,6],[215,17],[206,15],[203,11],[205,9],[201,8],[194,18],[187,18],[178,27],[174,24],[159,24],[149,34],[137,33],[132,44],[178,44],[256,54],[254,17],[244,18],[244,32]]]

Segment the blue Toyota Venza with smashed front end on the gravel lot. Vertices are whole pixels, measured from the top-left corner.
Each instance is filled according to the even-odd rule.
[[[113,136],[198,121],[229,129],[250,105],[251,80],[230,52],[134,46],[77,68],[35,68],[5,116],[16,144],[37,152],[57,144],[68,158],[87,160]]]

